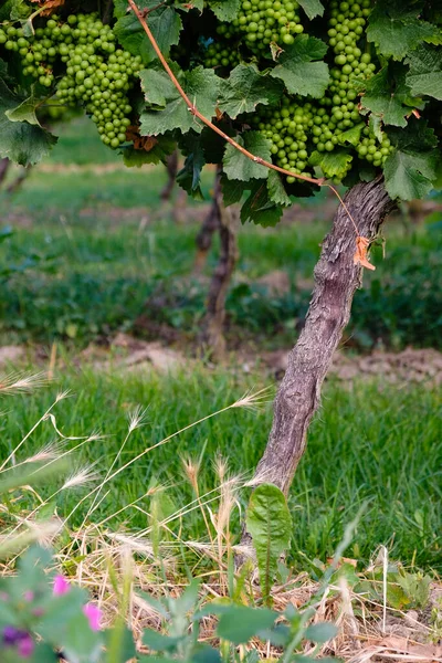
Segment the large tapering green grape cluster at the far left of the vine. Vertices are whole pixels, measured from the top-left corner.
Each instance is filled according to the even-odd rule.
[[[115,41],[109,25],[95,13],[71,14],[67,22],[53,15],[30,38],[13,25],[0,31],[0,44],[17,51],[23,74],[43,87],[51,88],[57,70],[65,70],[57,83],[59,103],[84,105],[103,143],[113,148],[126,141],[131,113],[128,93],[141,69],[141,59],[117,48]]]

